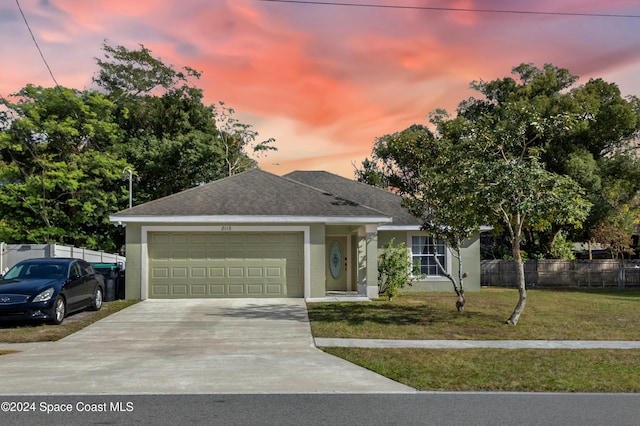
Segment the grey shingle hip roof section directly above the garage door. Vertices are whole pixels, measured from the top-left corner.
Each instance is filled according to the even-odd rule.
[[[362,190],[366,186],[352,182]],[[346,192],[345,192],[346,194]],[[297,216],[387,218],[390,214],[294,179],[252,169],[111,215],[113,222],[150,217]]]

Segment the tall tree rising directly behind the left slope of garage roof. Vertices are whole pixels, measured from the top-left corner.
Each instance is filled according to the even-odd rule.
[[[235,120],[231,108],[203,102],[203,91],[194,84],[199,72],[176,70],[143,45],[129,50],[105,43],[103,51],[94,83],[115,104],[124,132],[120,155],[133,164],[137,202],[256,167],[249,145],[257,132]],[[276,149],[267,145],[271,142],[253,151]]]

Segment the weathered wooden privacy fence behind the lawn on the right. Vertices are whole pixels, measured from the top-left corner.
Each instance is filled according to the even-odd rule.
[[[515,287],[516,263],[483,260],[481,285]],[[524,264],[527,287],[640,287],[640,260],[529,260]]]

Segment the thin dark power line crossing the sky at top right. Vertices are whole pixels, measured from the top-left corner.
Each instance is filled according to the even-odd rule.
[[[413,9],[413,10],[431,10],[439,12],[476,12],[476,13],[508,13],[518,15],[547,15],[547,16],[582,16],[591,18],[632,18],[639,19],[640,15],[621,15],[610,13],[579,13],[579,12],[537,12],[533,10],[506,10],[506,9],[472,9],[463,7],[431,7],[431,6],[402,6],[391,4],[357,4],[357,3],[340,3],[340,2],[324,2],[324,1],[305,1],[305,0],[258,0],[269,3],[294,3],[303,5],[316,6],[346,6],[346,7],[365,7],[379,9]]]

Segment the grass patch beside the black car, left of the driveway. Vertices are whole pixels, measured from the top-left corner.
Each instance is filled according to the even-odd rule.
[[[119,310],[137,303],[131,300],[105,302],[99,311],[82,311],[64,319],[61,325],[42,322],[0,323],[0,343],[50,342],[60,340]],[[2,352],[0,352],[2,355]]]

